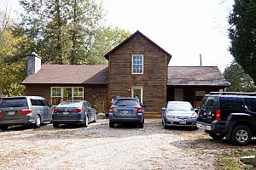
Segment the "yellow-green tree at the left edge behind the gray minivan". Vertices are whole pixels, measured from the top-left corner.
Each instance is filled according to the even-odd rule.
[[[24,94],[20,82],[26,77],[26,37],[17,37],[12,31],[3,32],[3,42],[0,44],[0,96]]]

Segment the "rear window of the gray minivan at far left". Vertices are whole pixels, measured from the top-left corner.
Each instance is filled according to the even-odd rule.
[[[26,98],[11,98],[11,99],[1,99],[0,107],[26,107],[27,99]]]

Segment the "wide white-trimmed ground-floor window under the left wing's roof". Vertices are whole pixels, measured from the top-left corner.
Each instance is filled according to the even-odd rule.
[[[83,100],[83,87],[51,87],[50,98],[53,104],[59,104],[63,100]]]

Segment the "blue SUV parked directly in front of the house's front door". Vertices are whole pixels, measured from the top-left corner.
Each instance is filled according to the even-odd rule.
[[[144,107],[137,98],[116,98],[109,108],[109,127],[118,123],[134,123],[143,128]]]

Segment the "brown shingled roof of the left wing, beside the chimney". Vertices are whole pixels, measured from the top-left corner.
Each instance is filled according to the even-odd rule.
[[[42,65],[22,84],[108,84],[108,65]]]

